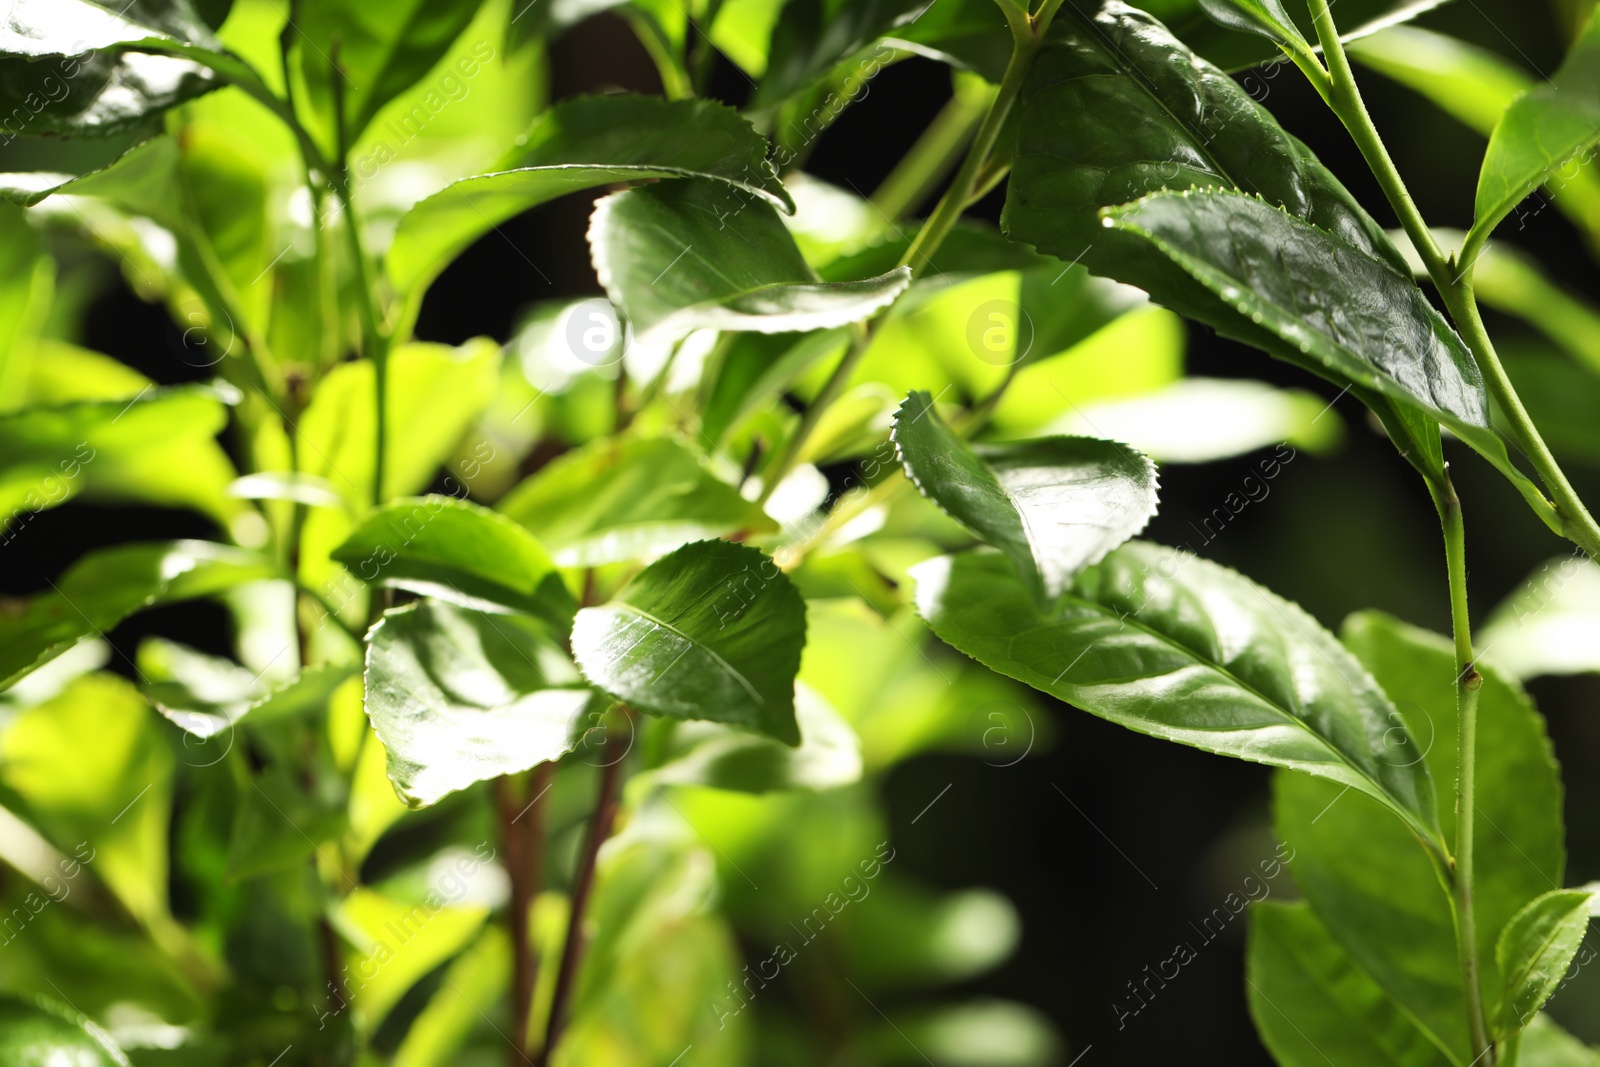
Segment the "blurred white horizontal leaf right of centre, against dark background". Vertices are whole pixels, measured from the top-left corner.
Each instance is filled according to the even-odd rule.
[[[1104,434],[1158,462],[1213,462],[1288,443],[1326,453],[1344,422],[1322,397],[1238,378],[1186,378],[1128,400],[1074,406],[1058,434]]]

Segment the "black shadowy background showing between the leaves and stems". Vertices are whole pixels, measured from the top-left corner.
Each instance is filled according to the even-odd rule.
[[[1421,24],[1549,72],[1562,54],[1558,21],[1560,14],[1542,5],[1458,0]],[[552,50],[552,72],[555,98],[610,88],[659,90],[626,24],[608,16],[562,38]],[[1464,227],[1472,214],[1482,139],[1381,77],[1358,77],[1424,216],[1437,226]],[[742,75],[723,62],[714,91],[739,104],[747,90]],[[949,72],[931,61],[886,69],[821,138],[806,170],[869,194],[947,96]],[[1298,72],[1283,69],[1264,102],[1376,218],[1394,224],[1347,134]],[[992,195],[978,214],[997,219],[1000,198],[998,192]],[[598,293],[584,243],[587,216],[589,200],[568,198],[502,227],[509,240],[486,237],[434,286],[419,336],[450,342],[480,334],[506,339],[528,302]],[[1568,288],[1600,291],[1594,262],[1557,213],[1541,213],[1512,238],[1536,253]],[[1491,317],[1490,330],[1499,339],[1526,328]],[[157,381],[197,374],[176,358],[176,336],[165,310],[123,288],[110,286],[93,304],[83,342]],[[1195,326],[1189,368],[1195,374],[1312,387],[1330,398],[1334,392]],[[1354,400],[1339,400],[1336,410],[1350,430],[1342,450],[1331,458],[1296,458],[1270,483],[1269,498],[1250,504],[1203,547],[1189,523],[1198,523],[1238,490],[1259,456],[1165,467],[1162,512],[1147,536],[1192,542],[1203,555],[1299,601],[1328,625],[1338,625],[1354,609],[1382,608],[1446,630],[1440,536],[1422,485],[1371,432]],[[1459,445],[1446,448],[1456,459],[1466,502],[1474,614],[1483,619],[1525,574],[1565,549],[1486,464]],[[1568,474],[1586,499],[1600,499],[1600,472],[1568,459]],[[203,520],[178,512],[82,504],[43,512],[13,542],[0,593],[34,592],[43,587],[45,576],[58,574],[99,544],[208,533]],[[221,641],[227,624],[219,608],[144,613],[112,637],[120,654],[131,654],[139,637],[150,632],[226,651]],[[122,667],[128,667],[125,659]],[[1568,883],[1600,878],[1600,789],[1587,773],[1600,766],[1600,680],[1542,680],[1533,693],[1566,766]],[[1272,854],[1267,773],[1126,733],[1064,705],[1051,713],[1058,723],[1048,753],[1011,768],[923,757],[898,768],[885,784],[894,841],[904,856],[898,862],[930,885],[992,886],[1021,910],[1019,952],[966,992],[1038,1006],[1066,1035],[1069,1059],[1093,1046],[1085,1064],[1194,1062],[1197,1053],[1200,1062],[1267,1064],[1245,1011],[1243,923],[1203,947],[1190,926],[1238,891],[1256,864]],[[912,825],[928,798],[946,785],[950,789],[938,800],[938,819]],[[1270,886],[1274,896],[1293,893],[1286,875]],[[1194,944],[1198,958],[1118,1027],[1112,1001],[1136,1006],[1126,984],[1142,979],[1142,969],[1168,958],[1178,942]],[[1554,1003],[1552,1014],[1600,1041],[1600,979],[1579,977]]]

